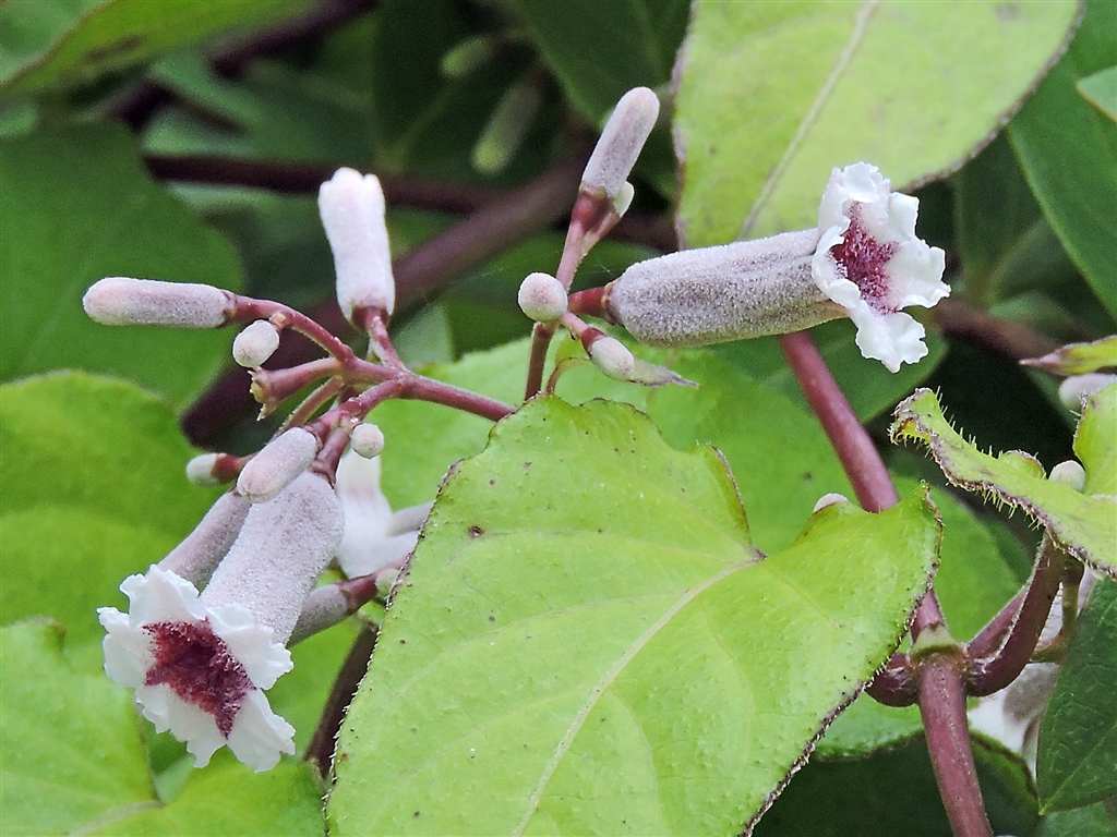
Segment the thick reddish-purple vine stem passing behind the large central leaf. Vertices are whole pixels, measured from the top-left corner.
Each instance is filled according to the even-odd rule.
[[[830,439],[861,506],[873,512],[895,506],[899,496],[888,469],[814,340],[806,331],[781,335],[780,348]],[[918,639],[919,634],[928,629],[945,632],[933,587],[928,587],[919,603],[911,635]],[[957,837],[991,837],[993,830],[985,815],[970,743],[963,684],[965,668],[965,652],[956,645],[922,657],[915,672],[919,713],[938,791],[954,834]]]

